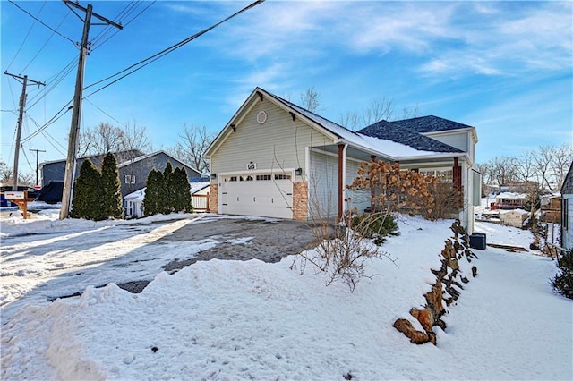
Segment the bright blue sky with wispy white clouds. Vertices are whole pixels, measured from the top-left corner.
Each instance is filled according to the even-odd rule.
[[[91,26],[84,84],[120,72],[250,3],[92,1],[94,12],[123,21],[124,30]],[[81,40],[82,21],[60,1],[15,4],[62,35],[0,2],[2,72],[47,83],[29,88],[21,134],[20,168],[33,173],[36,154],[30,149],[46,150],[39,153],[40,162],[67,152],[71,112],[26,138],[73,98],[78,57],[73,42]],[[570,143],[572,5],[267,0],[94,95],[108,82],[86,89],[81,128],[136,123],[146,127],[153,148],[165,149],[175,146],[184,123],[220,131],[257,86],[295,103],[313,87],[321,95],[318,114],[337,123],[343,114],[361,113],[386,98],[397,111],[417,106],[420,116],[473,125],[478,162]],[[66,65],[69,74],[56,85]],[[3,75],[1,155],[8,164],[20,93],[21,84]]]

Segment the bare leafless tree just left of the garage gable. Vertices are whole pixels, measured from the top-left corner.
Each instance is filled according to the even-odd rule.
[[[174,148],[167,150],[179,160],[191,165],[201,174],[209,174],[209,161],[205,157],[205,152],[209,148],[214,134],[207,131],[205,126],[197,127],[193,124],[187,126],[184,123],[183,133]]]

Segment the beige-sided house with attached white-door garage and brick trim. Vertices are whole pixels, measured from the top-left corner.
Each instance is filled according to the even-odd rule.
[[[479,205],[475,127],[436,116],[381,121],[361,131],[256,88],[207,149],[210,209],[219,214],[309,220],[370,207],[346,190],[362,162],[399,162],[437,174],[463,195],[458,217],[469,233]],[[348,201],[348,197],[352,200]]]

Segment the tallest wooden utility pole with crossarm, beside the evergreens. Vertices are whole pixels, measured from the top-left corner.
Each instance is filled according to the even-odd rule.
[[[105,17],[100,16],[98,13],[93,12],[93,6],[88,4],[87,8],[82,7],[80,4],[73,3],[70,0],[63,0],[64,4],[68,7],[74,7],[86,13],[83,20],[83,33],[81,35],[80,45],[80,58],[78,61],[78,72],[75,78],[75,92],[73,94],[73,112],[72,124],[70,126],[70,137],[68,141],[68,156],[65,160],[65,176],[64,176],[64,193],[62,194],[62,208],[60,209],[60,219],[68,217],[70,207],[72,206],[73,197],[73,177],[75,176],[76,159],[78,152],[78,143],[80,136],[80,121],[81,121],[81,100],[83,98],[83,70],[85,68],[86,55],[88,55],[90,47],[88,36],[90,35],[91,17],[95,17],[104,24],[94,25],[112,25],[115,28],[123,29],[120,24],[114,21],[107,20]],[[74,12],[75,13],[75,12]]]

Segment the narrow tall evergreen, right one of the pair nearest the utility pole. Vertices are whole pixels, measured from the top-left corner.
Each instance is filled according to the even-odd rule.
[[[103,183],[103,210],[108,217],[124,218],[122,197],[122,183],[119,180],[119,170],[115,156],[107,153],[101,167],[101,181]]]

